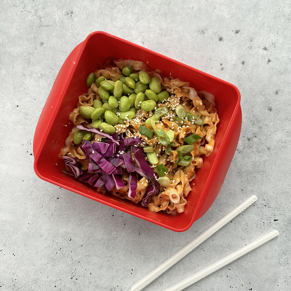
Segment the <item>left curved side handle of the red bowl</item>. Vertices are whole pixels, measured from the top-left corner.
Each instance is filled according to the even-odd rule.
[[[79,58],[79,55],[83,48],[83,42],[77,45],[77,47],[75,47],[72,50],[72,52],[69,54],[69,56],[66,58],[60,71],[58,72],[58,75],[56,76],[56,79],[52,86],[52,90],[49,93],[49,97],[47,98],[45,106],[42,109],[40,118],[38,120],[38,124],[36,126],[36,131],[34,133],[34,139],[33,139],[33,155],[35,158],[43,146],[45,136],[49,132],[49,128],[47,131],[44,131],[43,129],[47,128],[47,124],[51,123],[52,119],[54,118],[54,116],[50,114],[50,111],[53,108],[53,106],[59,105],[59,104],[56,104],[56,101],[55,101],[57,92],[60,91],[60,87],[63,87],[64,84],[67,84],[68,81],[70,80],[71,74],[67,74],[66,72],[74,71],[74,67],[76,67],[77,59]],[[50,116],[50,118],[48,118],[48,116]]]

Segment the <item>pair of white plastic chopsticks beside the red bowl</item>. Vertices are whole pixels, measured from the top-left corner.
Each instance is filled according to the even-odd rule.
[[[161,265],[156,267],[154,270],[152,270],[150,273],[148,273],[146,276],[144,276],[141,280],[139,280],[137,283],[131,286],[129,291],[140,291],[145,286],[150,284],[152,281],[154,281],[157,277],[159,277],[161,274],[163,274],[167,269],[172,267],[176,262],[178,262],[180,259],[182,259],[185,255],[187,255],[190,251],[194,250],[197,246],[199,246],[202,242],[204,242],[208,237],[213,235],[217,230],[219,230],[222,226],[224,226],[228,221],[236,217],[239,213],[244,211],[247,207],[249,207],[253,202],[255,202],[258,198],[255,195],[252,195],[250,198],[245,200],[242,204],[237,206],[234,210],[229,212],[225,217],[221,218],[217,223],[212,225],[210,228],[205,230],[203,233],[201,233],[198,237],[193,239],[189,244],[184,246],[180,251],[172,255],[170,258],[168,258],[166,261],[164,261]],[[273,230],[267,235],[264,235],[258,239],[256,239],[254,242],[251,242],[250,244],[242,247],[241,249],[231,253],[230,255],[226,256],[225,258],[222,258],[221,260],[213,263],[212,265],[200,270],[199,272],[187,277],[186,279],[176,283],[175,285],[165,289],[164,291],[180,291],[184,288],[194,284],[195,282],[201,280],[202,278],[206,277],[207,275],[217,271],[218,269],[224,267],[225,265],[229,264],[230,262],[233,262],[237,258],[240,258],[241,256],[245,255],[246,253],[252,251],[253,249],[257,248],[258,246],[261,246],[262,244],[265,244],[272,238],[276,237],[278,235],[277,230]]]

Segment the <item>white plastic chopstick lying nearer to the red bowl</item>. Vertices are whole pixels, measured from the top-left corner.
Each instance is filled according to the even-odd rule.
[[[204,242],[208,237],[213,235],[217,230],[219,230],[222,226],[224,226],[228,221],[233,219],[237,216],[237,214],[244,211],[247,207],[249,207],[255,200],[258,198],[255,195],[252,195],[250,198],[246,199],[242,204],[237,206],[234,210],[226,214],[225,217],[221,218],[217,223],[214,223],[210,228],[205,230],[203,233],[201,233],[198,237],[193,239],[189,244],[184,246],[180,251],[172,255],[170,258],[168,258],[166,261],[164,261],[161,265],[153,269],[150,273],[145,275],[143,278],[141,278],[138,282],[136,282],[134,285],[131,286],[129,291],[140,291],[145,286],[150,284],[152,281],[154,281],[157,277],[159,277],[161,274],[163,274],[167,269],[172,267],[176,262],[178,262],[180,259],[182,259],[185,255],[187,255],[190,251],[194,250],[196,246],[199,246],[202,242]]]

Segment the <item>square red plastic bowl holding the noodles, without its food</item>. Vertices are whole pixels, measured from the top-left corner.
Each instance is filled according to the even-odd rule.
[[[64,162],[58,159],[58,154],[72,129],[68,116],[75,108],[78,96],[87,92],[85,80],[88,74],[100,68],[109,57],[143,61],[151,69],[161,70],[165,76],[171,73],[174,78],[189,81],[197,91],[205,90],[216,97],[220,122],[214,151],[203,158],[203,166],[196,172],[193,190],[181,214],[171,216],[150,212],[127,200],[100,194],[88,183],[81,183],[63,172]],[[70,53],[56,77],[34,135],[34,170],[38,177],[52,184],[181,232],[205,214],[217,197],[235,153],[241,125],[240,93],[234,85],[127,40],[96,31]]]

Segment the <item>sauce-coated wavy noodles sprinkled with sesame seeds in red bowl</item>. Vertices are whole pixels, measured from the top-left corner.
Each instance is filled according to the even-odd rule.
[[[162,116],[159,122],[160,127],[165,132],[168,132],[170,129],[174,131],[175,135],[171,144],[172,150],[170,155],[164,152],[168,146],[161,145],[155,134],[149,139],[145,135],[139,133],[139,125],[142,124],[145,126],[146,119],[153,115],[152,111],[138,109],[133,119],[126,120],[123,124],[115,125],[115,129],[117,134],[124,133],[126,138],[141,136],[143,142],[140,145],[152,145],[158,157],[158,164],[164,164],[168,169],[166,176],[170,179],[170,185],[168,187],[161,186],[159,193],[148,198],[148,209],[152,212],[165,211],[171,215],[181,213],[184,211],[185,205],[187,204],[186,198],[191,192],[189,182],[195,178],[195,169],[199,169],[203,166],[203,155],[208,157],[214,148],[217,123],[219,122],[217,110],[214,108],[214,95],[206,91],[197,92],[190,86],[189,82],[173,79],[172,77],[164,77],[159,70],[151,71],[148,69],[147,65],[141,61],[119,59],[113,61],[115,66],[110,65],[111,61],[112,60],[108,60],[101,70],[95,71],[96,78],[103,76],[106,79],[117,81],[123,76],[121,72],[122,69],[125,66],[131,66],[136,73],[139,73],[140,70],[145,70],[149,73],[150,77],[159,77],[161,79],[162,90],[166,90],[169,93],[168,100],[158,102],[157,108],[167,107],[168,109],[172,109],[172,111],[169,110],[169,113]],[[74,123],[74,127],[65,140],[65,146],[61,149],[59,154],[60,158],[61,155],[68,155],[76,158],[83,170],[88,169],[88,160],[81,149],[77,145],[74,145],[73,135],[77,131],[76,125],[87,123],[86,126],[92,128],[91,120],[79,115],[79,107],[92,106],[95,99],[100,99],[100,97],[98,95],[98,88],[96,84],[93,83],[86,94],[79,96],[77,108],[70,113],[69,120]],[[203,125],[196,125],[194,122],[184,120],[184,124],[178,126],[178,124],[173,121],[175,117],[174,109],[178,104],[182,104],[187,112],[194,113],[200,117],[203,120]],[[148,125],[147,127],[152,130],[152,125]],[[191,134],[198,134],[201,139],[193,143],[194,148],[187,154],[192,157],[192,161],[189,165],[179,166],[179,156],[176,148],[183,145],[185,137]],[[91,141],[100,141],[102,137],[103,136],[99,134],[95,134]],[[136,165],[133,154],[132,159],[133,164]],[[147,159],[147,157],[145,159]],[[150,164],[150,166],[155,171],[156,165]],[[136,195],[134,198],[130,198],[128,197],[128,181],[129,174],[125,171],[123,176],[125,186],[119,190],[116,190],[114,187],[111,194],[115,197],[127,199],[137,204],[145,196],[151,182],[148,182],[144,177],[139,177]],[[105,193],[99,188],[98,191]]]

